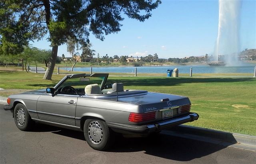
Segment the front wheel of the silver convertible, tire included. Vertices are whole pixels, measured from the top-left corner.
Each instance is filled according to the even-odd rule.
[[[17,104],[14,108],[14,122],[22,131],[28,131],[34,123],[23,104]]]

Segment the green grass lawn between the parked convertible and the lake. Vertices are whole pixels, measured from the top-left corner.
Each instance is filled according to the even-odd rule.
[[[44,74],[0,71],[0,88],[46,88],[54,86],[64,75],[54,74],[53,80],[42,80],[43,76]],[[199,120],[188,125],[256,136],[256,78],[215,78],[210,75],[167,78],[110,74],[108,82],[116,82],[116,79],[124,83],[125,89],[188,96],[192,102],[192,112],[200,115]]]

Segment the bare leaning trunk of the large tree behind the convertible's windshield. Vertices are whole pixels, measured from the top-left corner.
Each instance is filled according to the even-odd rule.
[[[44,74],[43,80],[52,80],[52,73],[56,64],[57,54],[58,54],[58,46],[53,46],[52,56],[50,57],[50,60],[47,64],[47,69]]]

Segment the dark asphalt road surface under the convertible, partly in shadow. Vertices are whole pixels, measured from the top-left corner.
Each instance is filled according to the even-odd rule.
[[[31,132],[18,130],[12,113],[0,105],[0,163],[223,163],[254,164],[256,152],[159,134],[118,138],[108,152],[93,150],[83,133],[43,124]]]

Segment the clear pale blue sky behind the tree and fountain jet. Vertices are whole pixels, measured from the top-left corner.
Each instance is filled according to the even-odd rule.
[[[139,22],[124,16],[121,31],[101,41],[90,34],[92,49],[100,56],[108,54],[183,58],[214,54],[218,35],[218,0],[162,0],[152,16]],[[40,49],[51,49],[46,38],[30,42]],[[240,50],[256,48],[256,0],[243,0],[240,10]],[[66,45],[58,56],[71,55]],[[81,53],[81,52],[80,52]]]

